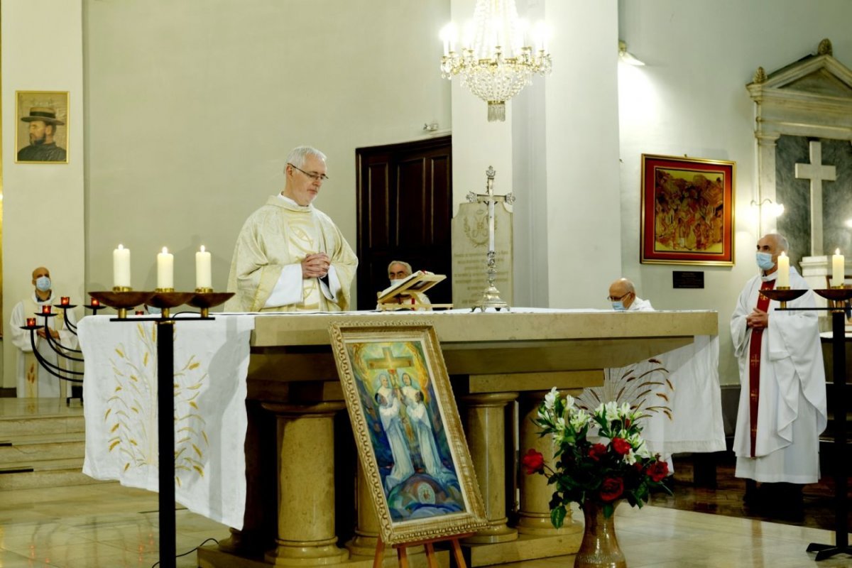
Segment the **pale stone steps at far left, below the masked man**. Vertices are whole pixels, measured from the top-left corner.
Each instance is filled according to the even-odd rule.
[[[64,399],[0,399],[0,491],[103,483],[83,475],[85,419]]]

